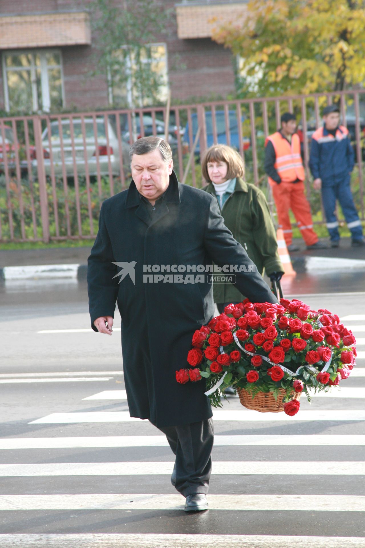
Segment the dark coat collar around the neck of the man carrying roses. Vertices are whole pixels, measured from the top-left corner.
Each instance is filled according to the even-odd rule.
[[[141,219],[141,221],[145,222],[146,225],[148,225],[148,228],[155,224],[155,222],[162,219],[167,213],[169,213],[169,208],[167,207],[167,203],[180,203],[180,190],[179,190],[179,184],[177,180],[177,176],[175,172],[173,171],[170,175],[170,183],[167,187],[165,197],[163,199],[163,202],[160,204],[156,216],[154,219],[150,219],[150,216],[148,214],[148,211],[146,207],[144,207],[144,204],[140,198],[140,193],[137,190],[136,184],[134,180],[131,180],[131,184],[129,185],[129,189],[127,192],[127,197],[125,200],[125,209],[129,209],[132,207],[136,207],[135,215],[138,217],[138,219]]]

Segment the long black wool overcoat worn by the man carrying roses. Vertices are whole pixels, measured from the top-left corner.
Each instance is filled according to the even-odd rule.
[[[149,274],[150,280],[161,265],[171,266],[176,275],[184,265],[212,262],[246,265],[248,270],[252,261],[225,227],[217,199],[180,184],[174,172],[155,215],[151,220],[134,181],[128,190],[103,202],[88,259],[89,310],[91,327],[97,331],[94,320],[114,317],[118,302],[130,415],[157,426],[175,426],[212,416],[205,381],[181,385],[175,379],[176,370],[190,367],[187,354],[195,330],[213,317],[212,283],[208,272],[202,273],[204,282],[194,284],[150,283],[143,275]],[[124,265],[112,261],[135,261],[135,280],[127,273],[118,283],[120,277],[114,276]],[[199,272],[192,274],[195,279]],[[277,302],[259,272],[235,275],[235,286],[250,300]]]

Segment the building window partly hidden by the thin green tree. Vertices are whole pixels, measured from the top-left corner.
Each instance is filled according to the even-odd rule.
[[[108,71],[109,103],[143,107],[165,103],[169,93],[166,44],[126,46],[114,52]]]

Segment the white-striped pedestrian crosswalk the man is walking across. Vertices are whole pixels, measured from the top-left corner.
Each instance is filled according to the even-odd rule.
[[[238,398],[215,410],[209,510],[190,516],[170,484],[165,436],[120,410],[123,384],[97,391],[78,381],[120,382],[123,372],[0,375],[18,386],[67,380],[62,390],[76,381],[79,394],[0,438],[1,548],[365,548],[365,339],[357,349],[343,386],[293,417]]]

